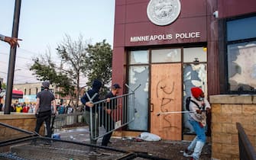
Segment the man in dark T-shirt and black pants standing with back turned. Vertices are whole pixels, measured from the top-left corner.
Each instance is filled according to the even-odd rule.
[[[54,95],[49,91],[50,82],[42,83],[42,91],[37,93],[37,104],[34,112],[37,117],[37,123],[34,131],[39,133],[42,124],[45,122],[47,127],[47,137],[51,137],[50,118],[51,104],[53,103],[53,114],[57,114],[57,107]]]

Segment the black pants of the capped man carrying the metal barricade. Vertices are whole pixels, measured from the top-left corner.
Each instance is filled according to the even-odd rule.
[[[105,110],[104,110],[104,113],[103,113],[103,126],[105,128],[106,133],[115,129],[115,121],[112,120],[111,115],[105,113]],[[112,136],[112,132],[103,136],[102,146],[108,146],[108,142],[109,142],[111,136]]]

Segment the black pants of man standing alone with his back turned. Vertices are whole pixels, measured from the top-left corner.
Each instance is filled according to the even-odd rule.
[[[39,112],[39,114],[37,115],[37,124],[36,124],[36,128],[34,129],[34,131],[36,133],[39,133],[39,130],[40,130],[42,124],[45,122],[46,129],[47,129],[47,137],[51,137],[50,117],[51,117],[51,110]]]

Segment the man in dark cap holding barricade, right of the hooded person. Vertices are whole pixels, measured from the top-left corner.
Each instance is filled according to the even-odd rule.
[[[115,121],[112,120],[112,110],[116,109],[116,107],[119,107],[118,99],[116,99],[115,97],[118,95],[120,88],[120,85],[118,85],[117,83],[112,85],[111,91],[105,96],[105,99],[107,99],[107,103],[103,109],[103,126],[106,133],[115,129]],[[103,136],[102,146],[108,146],[111,136],[112,132]]]

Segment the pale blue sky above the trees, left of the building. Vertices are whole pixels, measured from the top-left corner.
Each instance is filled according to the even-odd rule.
[[[0,34],[11,37],[15,0],[0,0]],[[106,40],[113,46],[115,0],[21,0],[14,84],[39,82],[29,71],[32,59],[50,53],[57,57],[57,45],[65,35],[92,44]],[[10,46],[0,41],[0,78],[7,82]],[[86,82],[81,82],[85,85]]]

